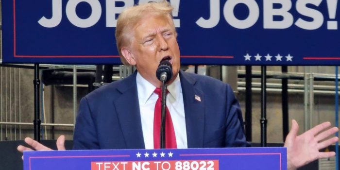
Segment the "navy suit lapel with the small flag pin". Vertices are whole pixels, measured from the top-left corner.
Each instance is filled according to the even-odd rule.
[[[180,71],[188,148],[202,148],[204,140],[204,93],[195,87],[196,80]]]

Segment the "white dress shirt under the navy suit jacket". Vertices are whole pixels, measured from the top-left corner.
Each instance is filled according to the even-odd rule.
[[[145,80],[139,72],[137,72],[136,83],[145,149],[153,149],[153,114],[154,106],[158,99],[158,95],[153,91],[156,87]],[[184,114],[182,86],[179,75],[177,75],[171,85],[168,85],[167,89],[169,91],[167,94],[167,107],[175,130],[177,148],[186,149],[187,128]]]

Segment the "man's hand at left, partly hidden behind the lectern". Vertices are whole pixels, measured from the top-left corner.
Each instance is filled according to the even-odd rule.
[[[31,148],[19,145],[17,147],[17,150],[21,153],[23,153],[24,151],[52,151],[51,148],[48,148],[48,147],[42,145],[41,143],[33,140],[31,137],[26,137],[25,142]],[[61,135],[61,136],[58,137],[58,139],[57,139],[57,149],[58,149],[58,151],[66,150],[65,149],[65,136],[64,135]],[[21,158],[23,160],[23,156]]]

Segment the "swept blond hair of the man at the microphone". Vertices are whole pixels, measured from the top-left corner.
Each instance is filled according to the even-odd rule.
[[[121,48],[126,47],[131,43],[133,29],[138,21],[146,14],[153,14],[156,16],[161,15],[169,18],[169,21],[175,30],[171,15],[172,9],[172,6],[167,0],[138,4],[124,9],[118,17],[116,27],[117,50],[120,55],[120,60],[124,65],[129,64],[121,54]]]

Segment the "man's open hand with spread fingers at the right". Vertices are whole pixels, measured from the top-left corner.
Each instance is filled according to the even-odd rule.
[[[324,140],[339,131],[337,127],[325,130],[330,125],[330,122],[324,122],[297,136],[299,125],[292,120],[292,126],[285,141],[288,170],[296,170],[316,159],[335,156],[335,152],[319,152],[339,140],[338,137]]]

